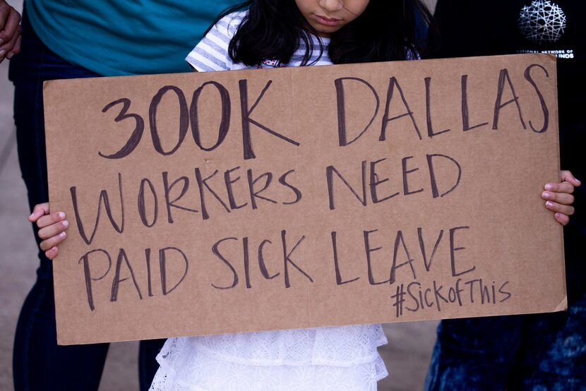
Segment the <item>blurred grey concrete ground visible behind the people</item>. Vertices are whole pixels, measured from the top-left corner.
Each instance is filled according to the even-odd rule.
[[[8,0],[22,9],[22,1]],[[434,3],[431,0],[431,3]],[[8,61],[0,64],[0,390],[12,390],[13,336],[20,306],[35,281],[35,240],[26,217],[26,189],[18,169]],[[380,349],[389,376],[379,390],[421,390],[435,339],[436,322],[385,325],[389,344]],[[112,344],[100,390],[137,390],[138,343]]]

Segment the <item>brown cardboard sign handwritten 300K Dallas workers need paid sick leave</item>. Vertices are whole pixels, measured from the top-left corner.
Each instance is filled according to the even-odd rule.
[[[566,308],[556,64],[45,83],[59,343]]]

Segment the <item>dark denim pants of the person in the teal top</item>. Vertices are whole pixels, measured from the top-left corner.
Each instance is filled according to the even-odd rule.
[[[31,207],[47,202],[42,82],[99,76],[68,64],[42,44],[26,11],[22,22],[22,50],[11,60],[9,78],[15,85],[14,119],[18,160]],[[88,43],[90,44],[90,43]],[[25,217],[23,217],[25,218]],[[33,225],[37,243],[37,227]],[[52,262],[39,252],[37,280],[20,311],[13,351],[15,390],[97,390],[108,344],[56,344]],[[140,342],[140,388],[146,390],[157,371],[155,356],[164,339]]]

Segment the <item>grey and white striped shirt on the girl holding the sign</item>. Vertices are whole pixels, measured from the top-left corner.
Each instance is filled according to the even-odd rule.
[[[248,11],[239,11],[230,13],[224,18],[218,20],[214,27],[208,32],[203,40],[188,54],[186,61],[199,72],[208,71],[232,71],[237,69],[251,68],[278,68],[282,66],[300,66],[305,54],[305,44],[300,40],[299,47],[294,52],[289,64],[281,64],[275,59],[265,59],[257,66],[247,66],[242,63],[235,63],[228,54],[228,45],[232,37],[246,17]],[[330,65],[332,61],[328,57],[328,38],[318,38],[311,35],[313,42],[313,51],[308,64],[311,65]],[[319,40],[323,44],[323,53],[320,56]]]

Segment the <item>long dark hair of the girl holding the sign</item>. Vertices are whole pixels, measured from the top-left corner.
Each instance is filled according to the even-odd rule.
[[[316,0],[318,1],[318,0]],[[227,8],[228,13],[249,9],[229,44],[232,60],[255,66],[264,59],[289,63],[304,42],[301,65],[309,60],[317,35],[297,8],[295,0],[250,0]],[[216,22],[217,22],[216,20]],[[421,0],[370,0],[364,12],[331,35],[328,54],[333,64],[405,60],[423,54],[426,25],[433,28],[431,13]],[[209,29],[208,29],[209,30]],[[323,45],[320,41],[320,50]]]

